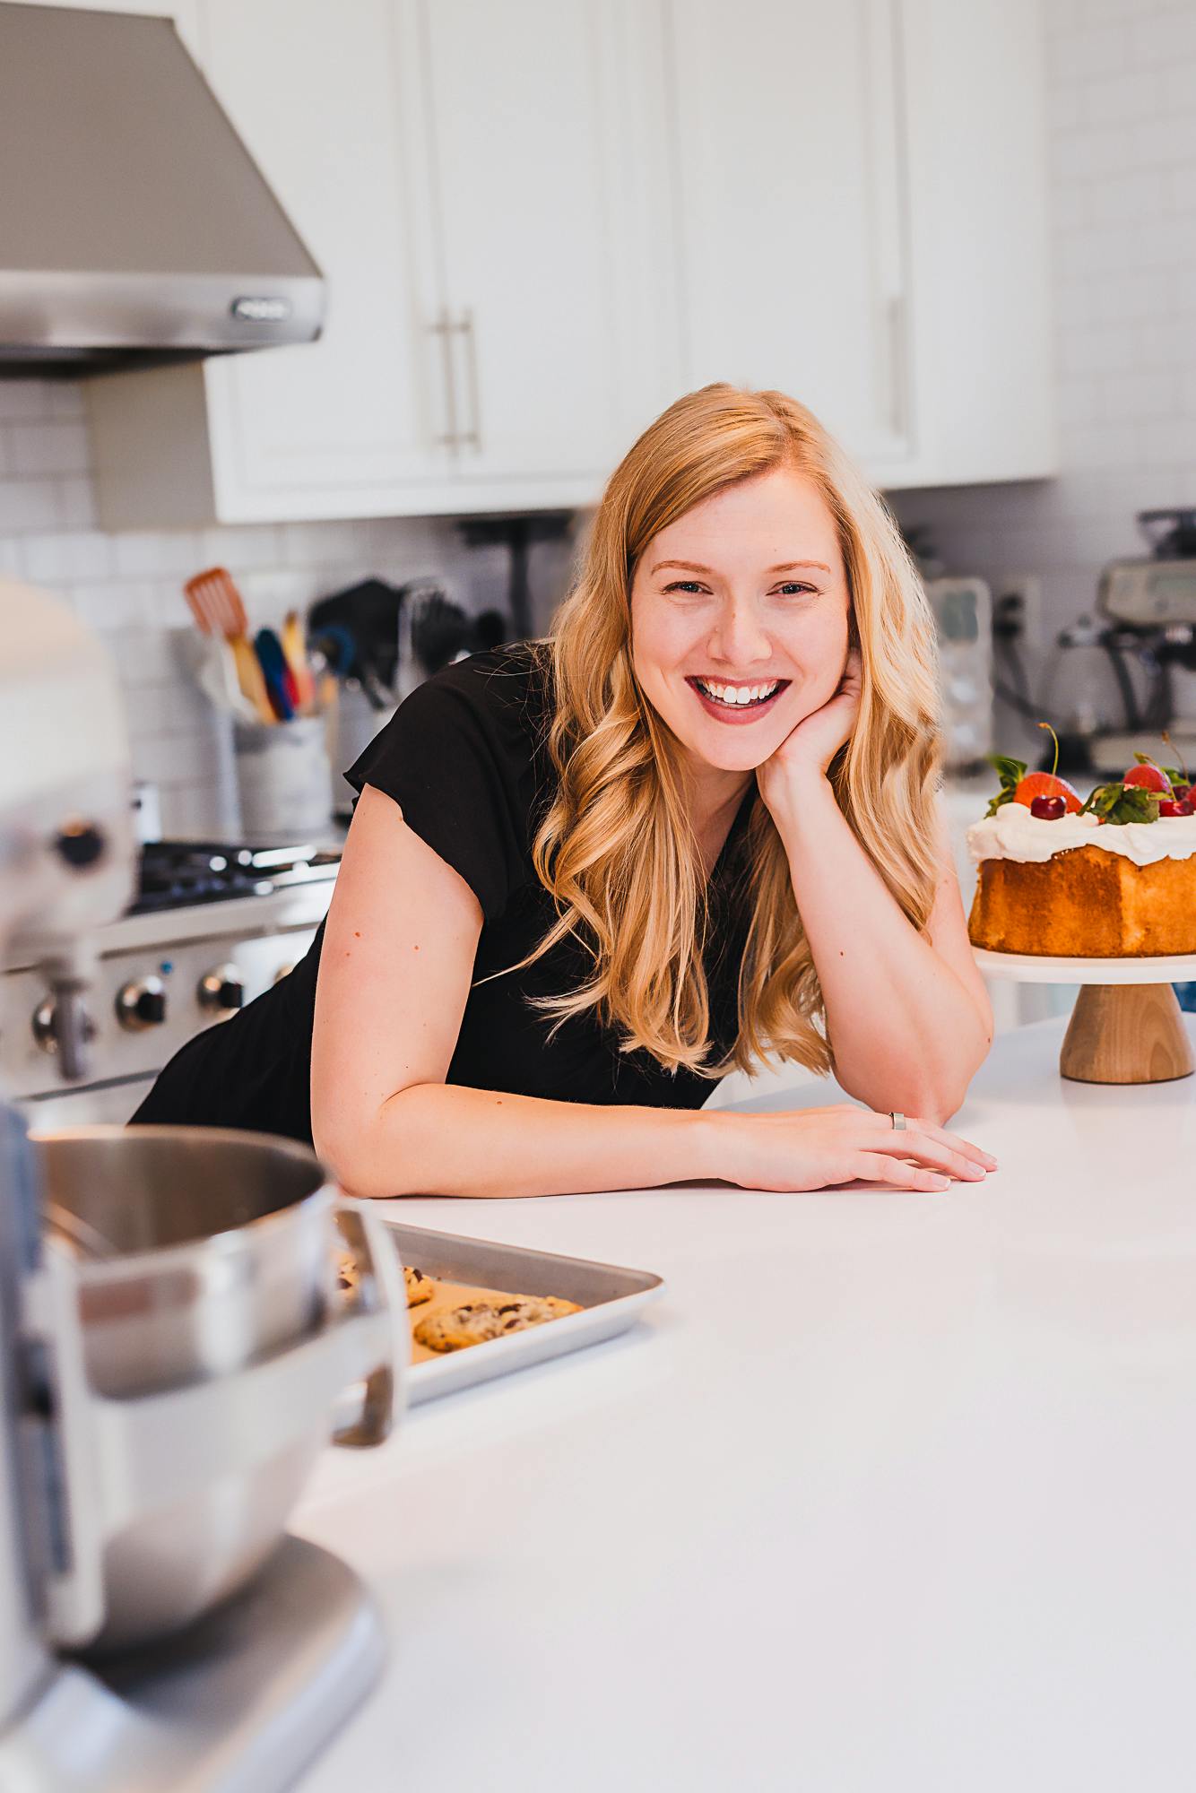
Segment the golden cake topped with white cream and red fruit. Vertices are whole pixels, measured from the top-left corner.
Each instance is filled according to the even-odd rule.
[[[968,828],[974,947],[1078,959],[1196,952],[1191,785],[1178,767],[1135,758],[1081,801],[1065,778],[993,757],[1001,791]]]

